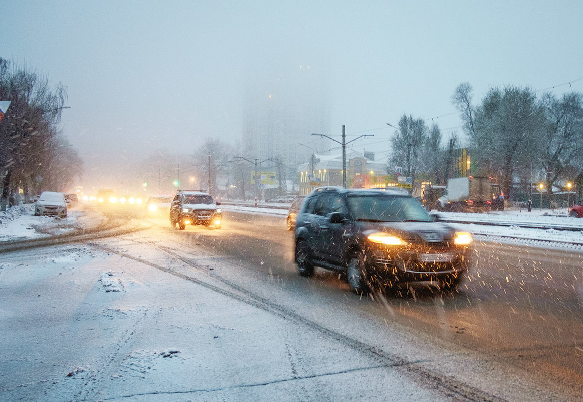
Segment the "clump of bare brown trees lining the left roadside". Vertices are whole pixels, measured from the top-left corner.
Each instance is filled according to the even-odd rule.
[[[71,177],[54,173],[80,174],[82,167],[76,151],[58,135],[65,87],[59,84],[51,89],[43,76],[16,65],[11,68],[10,62],[0,58],[0,99],[10,101],[0,123],[1,209],[19,186],[66,191]],[[65,148],[69,158],[60,158]],[[71,162],[75,166],[67,170]]]

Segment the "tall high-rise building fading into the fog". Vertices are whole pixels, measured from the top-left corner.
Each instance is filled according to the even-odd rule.
[[[321,74],[297,67],[262,82],[250,82],[243,107],[243,148],[250,158],[278,159],[286,176],[312,153],[331,148],[329,91]],[[264,162],[262,166],[273,166]]]

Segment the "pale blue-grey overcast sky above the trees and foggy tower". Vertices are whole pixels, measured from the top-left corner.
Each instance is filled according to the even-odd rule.
[[[403,113],[457,130],[461,82],[583,92],[583,1],[4,0],[0,57],[68,88],[86,174],[109,157],[241,141],[245,85],[310,66],[331,133],[388,151]],[[310,141],[310,133],[306,133]],[[139,159],[139,158],[138,158]]]

